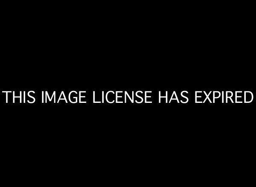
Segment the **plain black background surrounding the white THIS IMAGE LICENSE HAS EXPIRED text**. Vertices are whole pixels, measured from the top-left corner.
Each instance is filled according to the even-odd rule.
[[[3,13],[1,91],[152,90],[154,104],[2,102],[5,176],[131,184],[250,178],[255,101],[196,105],[193,96],[255,94],[247,7],[42,7]],[[157,91],[183,90],[187,105],[157,104]]]

